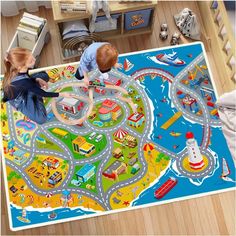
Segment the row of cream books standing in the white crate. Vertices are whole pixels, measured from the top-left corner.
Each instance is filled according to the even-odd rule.
[[[45,19],[25,12],[17,27],[18,46],[32,50],[45,23]]]

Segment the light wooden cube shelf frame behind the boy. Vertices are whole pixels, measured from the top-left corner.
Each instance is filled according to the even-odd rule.
[[[155,11],[157,7],[157,0],[148,1],[148,2],[120,2],[120,1],[109,1],[110,14],[121,14],[118,18],[117,29],[103,32],[95,32],[96,35],[100,36],[102,40],[109,39],[117,39],[121,37],[134,36],[139,34],[148,34],[152,33],[153,30],[153,22]],[[125,29],[125,14],[132,11],[139,11],[151,9],[151,15],[149,19],[149,25],[144,28],[126,30]],[[63,45],[61,39],[62,32],[62,23],[74,20],[85,20],[87,27],[89,26],[89,21],[92,17],[91,15],[91,2],[87,1],[87,12],[86,13],[64,13],[60,10],[60,5],[58,1],[52,1],[52,11],[54,21],[57,25],[57,33],[60,35],[60,44],[61,47]],[[104,16],[104,12],[98,12],[98,16]],[[78,55],[71,55],[69,57],[65,57],[62,53],[63,60],[68,60],[71,58],[79,57]]]

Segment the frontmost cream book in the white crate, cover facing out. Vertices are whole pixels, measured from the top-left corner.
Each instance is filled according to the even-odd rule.
[[[17,35],[18,35],[18,45],[19,47],[26,48],[32,50],[34,45],[38,39],[38,33],[33,32],[31,30],[18,27],[17,28]]]

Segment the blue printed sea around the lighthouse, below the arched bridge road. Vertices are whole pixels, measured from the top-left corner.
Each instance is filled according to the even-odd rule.
[[[167,83],[167,82],[166,82]],[[148,94],[149,98],[153,102],[153,106],[155,108],[154,114],[157,114],[161,111],[163,114],[162,117],[154,116],[153,127],[154,131],[151,135],[151,139],[155,142],[160,144],[163,147],[168,148],[173,152],[180,152],[182,149],[186,147],[186,138],[185,133],[187,131],[191,131],[194,133],[194,136],[198,142],[201,143],[202,138],[202,126],[199,124],[193,124],[188,120],[185,120],[183,117],[178,119],[168,130],[163,130],[160,126],[170,117],[173,115],[173,111],[175,109],[171,108],[170,103],[160,102],[155,94],[158,90],[162,89],[162,81],[161,79],[155,79],[154,81],[150,78],[146,78],[145,81],[142,83],[145,86],[145,91]],[[152,86],[150,86],[152,84]],[[166,84],[165,89],[163,91],[163,95],[168,97],[168,84]],[[176,132],[181,132],[182,135],[179,137],[173,137],[169,135],[169,132],[174,130]],[[146,189],[142,194],[139,195],[139,198],[133,202],[134,206],[147,204],[147,203],[155,203],[160,202],[163,200],[190,196],[194,194],[200,193],[207,193],[210,191],[216,191],[226,188],[231,188],[235,186],[233,182],[227,182],[220,178],[222,174],[222,157],[224,157],[228,163],[229,169],[231,174],[229,175],[230,178],[235,180],[235,167],[231,157],[231,154],[228,150],[226,140],[223,136],[221,128],[211,128],[212,137],[211,137],[211,145],[209,148],[213,150],[218,155],[218,166],[217,170],[211,177],[207,177],[203,180],[203,183],[200,186],[194,185],[190,182],[190,180],[186,177],[179,177],[176,173],[169,168],[167,172],[159,179],[159,181],[154,184],[152,187]],[[162,139],[157,139],[156,136],[161,135]],[[178,149],[173,149],[173,144],[179,145]],[[173,162],[173,161],[172,161]],[[177,185],[167,193],[161,200],[157,200],[154,197],[154,192],[165,182],[168,180],[169,177],[174,177],[178,180]]]

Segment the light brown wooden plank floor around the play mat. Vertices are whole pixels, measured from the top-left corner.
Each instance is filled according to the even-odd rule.
[[[160,2],[152,35],[141,35],[110,42],[118,48],[120,53],[167,46],[170,36],[177,31],[173,15],[184,7],[192,9],[199,16],[196,2]],[[42,51],[40,67],[65,63],[60,56],[59,39],[56,35],[51,10],[40,8],[36,14],[48,19],[52,36],[51,42]],[[1,17],[1,59],[4,58],[4,53],[14,35],[19,19],[20,15],[9,18]],[[159,39],[160,24],[163,22],[168,23],[170,34],[169,39],[165,42]],[[215,63],[211,51],[208,51],[207,54],[218,93],[233,90],[232,85],[225,78],[219,78],[218,70],[220,68]],[[3,72],[4,69],[2,68],[1,71]],[[235,235],[236,233],[235,192],[233,191],[108,216],[11,232],[8,226],[3,184],[1,189],[2,235]]]

